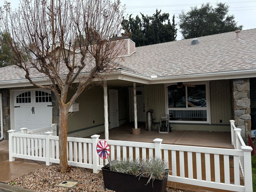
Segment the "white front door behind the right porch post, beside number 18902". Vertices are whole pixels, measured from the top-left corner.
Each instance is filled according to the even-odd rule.
[[[131,101],[131,121],[134,121],[134,105],[133,105],[133,89],[130,90]],[[137,100],[137,121],[145,122],[145,98],[144,87],[136,87],[136,100]]]

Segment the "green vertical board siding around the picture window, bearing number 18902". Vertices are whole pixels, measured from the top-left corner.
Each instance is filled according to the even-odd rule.
[[[154,110],[155,122],[160,121],[160,115],[165,114],[165,86],[164,84],[145,85],[145,111]],[[173,129],[229,131],[231,119],[229,80],[210,81],[210,112],[211,124],[173,123]],[[220,123],[220,119],[222,123]],[[155,127],[156,128],[156,127]]]

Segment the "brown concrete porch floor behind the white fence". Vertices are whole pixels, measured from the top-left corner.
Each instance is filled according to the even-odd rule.
[[[125,123],[124,125],[113,128],[109,130],[109,139],[153,143],[155,138],[160,138],[163,139],[162,143],[164,144],[234,149],[231,145],[230,132],[173,130],[169,134],[159,134],[158,130],[147,131],[145,123],[138,123],[138,128],[141,129],[141,134],[133,135],[133,127],[133,123]],[[105,132],[98,133],[98,135],[101,135],[99,137],[100,139],[105,139]]]

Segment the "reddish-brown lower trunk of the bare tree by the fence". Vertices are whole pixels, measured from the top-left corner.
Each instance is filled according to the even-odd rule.
[[[59,171],[67,171],[67,119],[69,108],[66,104],[59,106]]]

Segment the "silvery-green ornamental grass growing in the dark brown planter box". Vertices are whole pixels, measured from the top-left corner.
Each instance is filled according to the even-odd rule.
[[[135,175],[136,177],[147,177],[147,184],[155,179],[168,177],[168,163],[159,157],[150,157],[148,159],[114,159],[109,161],[111,171]]]

